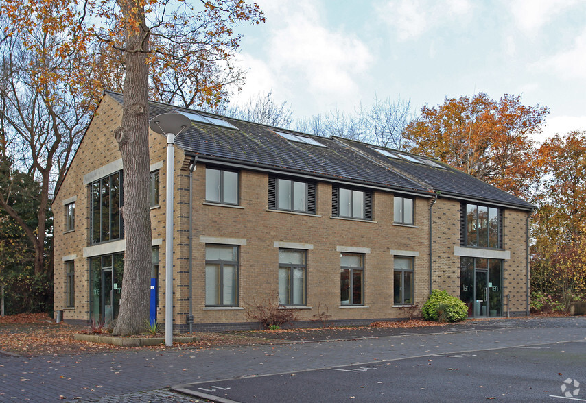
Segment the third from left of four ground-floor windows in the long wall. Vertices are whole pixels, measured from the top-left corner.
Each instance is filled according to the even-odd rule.
[[[364,254],[342,253],[340,304],[364,305]]]

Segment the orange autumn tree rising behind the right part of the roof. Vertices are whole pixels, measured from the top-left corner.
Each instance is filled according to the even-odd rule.
[[[438,158],[517,196],[530,197],[540,178],[540,160],[532,135],[541,131],[544,106],[524,106],[521,97],[486,94],[446,98],[424,106],[404,130],[406,148]]]

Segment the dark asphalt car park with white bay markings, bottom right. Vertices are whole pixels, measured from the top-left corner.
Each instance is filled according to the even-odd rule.
[[[586,402],[586,341],[494,347],[177,385],[214,402]],[[580,384],[583,382],[583,392]]]

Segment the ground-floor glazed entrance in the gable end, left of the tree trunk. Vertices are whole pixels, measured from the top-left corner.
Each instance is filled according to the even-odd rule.
[[[90,318],[110,323],[118,317],[124,253],[90,258]]]

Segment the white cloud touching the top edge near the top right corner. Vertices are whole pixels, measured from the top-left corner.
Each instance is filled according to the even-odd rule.
[[[505,0],[521,31],[528,36],[536,36],[539,29],[546,25],[556,14],[560,14],[570,6],[574,0]]]

